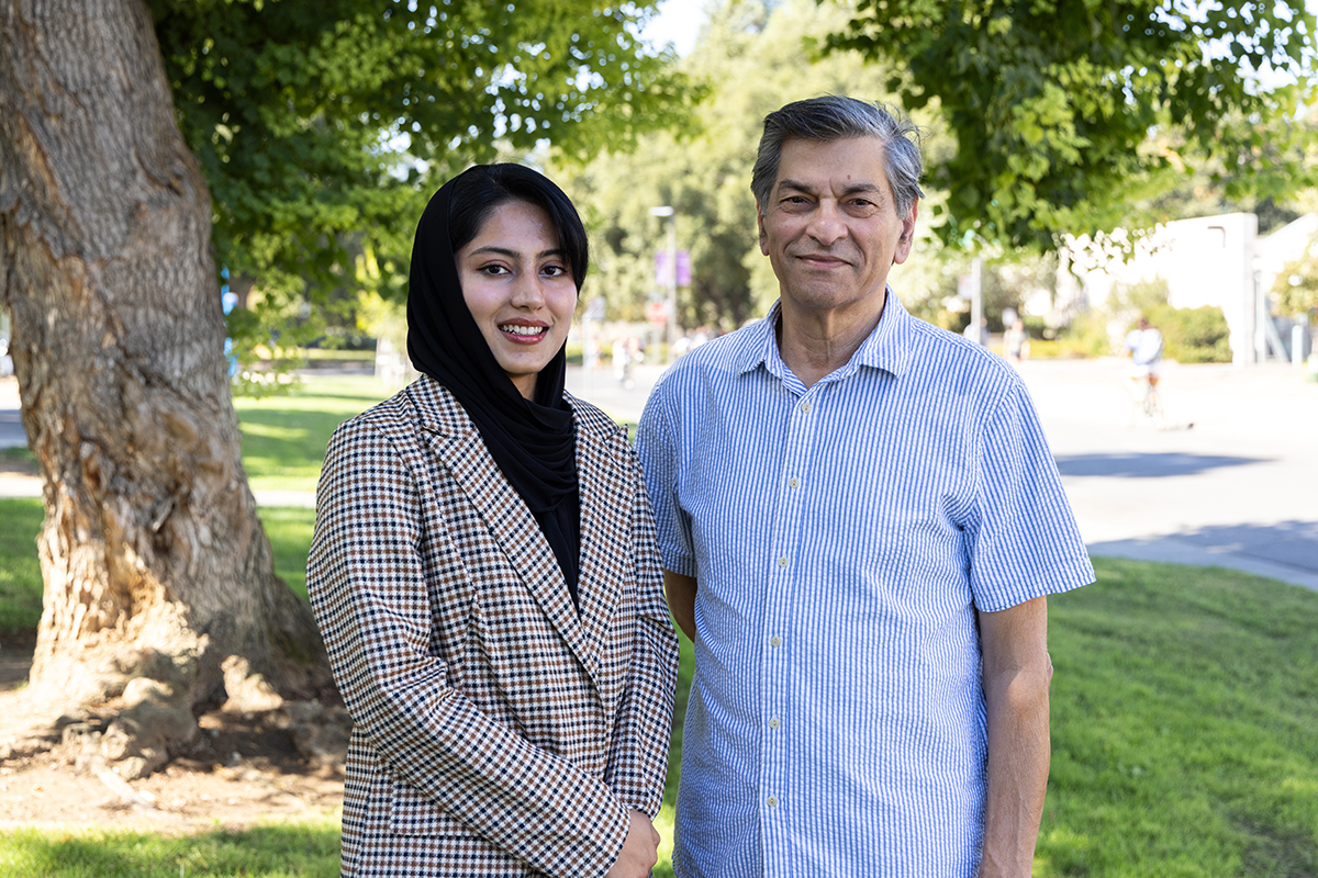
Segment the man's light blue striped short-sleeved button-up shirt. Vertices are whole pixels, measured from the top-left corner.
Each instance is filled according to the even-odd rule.
[[[681,878],[971,878],[975,608],[1093,582],[1033,405],[888,291],[807,390],[768,319],[656,384],[638,449],[664,566],[696,577]]]

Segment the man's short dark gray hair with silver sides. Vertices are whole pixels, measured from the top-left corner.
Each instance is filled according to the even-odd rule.
[[[768,209],[783,143],[789,140],[832,142],[849,137],[876,137],[883,143],[883,167],[894,207],[899,217],[905,217],[916,200],[924,196],[920,191],[920,175],[924,172],[920,129],[883,104],[841,95],[797,100],[764,117],[764,134],[759,138],[750,182],[759,212]]]

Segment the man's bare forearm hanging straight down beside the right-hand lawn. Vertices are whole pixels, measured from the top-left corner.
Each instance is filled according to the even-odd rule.
[[[1021,669],[985,678],[988,790],[981,878],[1028,878],[1048,788],[1048,678]]]

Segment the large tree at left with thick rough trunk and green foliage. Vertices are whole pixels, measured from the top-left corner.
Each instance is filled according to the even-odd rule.
[[[648,9],[0,4],[0,303],[46,508],[24,696],[47,719],[99,712],[136,775],[207,706],[328,686],[243,470],[215,258],[331,284],[348,236],[405,237],[447,168],[634,136],[673,97],[633,37]]]

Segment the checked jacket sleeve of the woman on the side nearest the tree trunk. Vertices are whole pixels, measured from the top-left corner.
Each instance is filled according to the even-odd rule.
[[[630,824],[609,786],[448,684],[432,646],[444,583],[427,587],[420,545],[436,534],[422,520],[418,480],[390,438],[360,420],[340,426],[318,487],[307,591],[353,723],[473,835],[547,875],[605,874]]]

